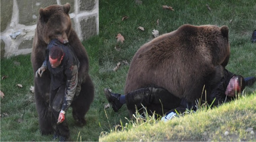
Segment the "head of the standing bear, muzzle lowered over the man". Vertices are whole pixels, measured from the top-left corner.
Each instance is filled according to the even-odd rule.
[[[69,17],[70,4],[52,5],[40,8],[38,29],[45,43],[50,43],[51,39],[58,39],[61,43],[68,43],[71,31],[71,20]]]

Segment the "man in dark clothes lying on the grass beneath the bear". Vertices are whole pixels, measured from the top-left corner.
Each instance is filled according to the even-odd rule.
[[[207,103],[213,104],[213,106],[220,105],[226,101],[234,99],[236,94],[242,93],[245,86],[252,85],[255,81],[255,77],[248,77],[244,79],[240,75],[235,75],[221,66],[216,67],[217,73],[212,81],[206,85],[206,98],[205,94],[202,95],[202,100]],[[219,78],[220,77],[220,78]],[[162,120],[170,120],[176,114],[176,112],[182,113],[186,109],[196,110],[195,102],[188,102],[185,99],[175,97],[170,92],[162,87],[156,87],[150,85],[148,87],[138,89],[130,92],[126,95],[120,95],[116,93],[110,93],[108,89],[104,89],[104,93],[109,103],[112,104],[112,108],[117,112],[124,103],[128,110],[138,110],[142,108],[142,105],[147,108],[148,112],[154,112],[156,114],[166,114]],[[136,106],[136,107],[135,107]]]

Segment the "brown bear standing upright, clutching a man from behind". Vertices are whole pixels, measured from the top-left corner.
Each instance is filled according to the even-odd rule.
[[[72,102],[72,114],[78,124],[84,125],[86,123],[84,116],[94,99],[94,85],[88,74],[88,55],[76,32],[71,27],[71,20],[68,14],[69,10],[70,4],[68,3],[63,6],[52,5],[44,9],[40,8],[33,40],[31,63],[35,76],[36,71],[41,67],[44,61],[46,48],[51,39],[58,39],[60,42],[70,45],[80,61],[78,79],[84,80],[81,84],[80,95]],[[42,134],[50,134],[53,132],[50,115],[48,115],[49,89],[49,71],[46,71],[42,77],[34,77],[36,109]]]

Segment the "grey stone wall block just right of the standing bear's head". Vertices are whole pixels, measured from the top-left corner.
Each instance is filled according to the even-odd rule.
[[[96,16],[90,16],[80,21],[82,39],[97,35]]]

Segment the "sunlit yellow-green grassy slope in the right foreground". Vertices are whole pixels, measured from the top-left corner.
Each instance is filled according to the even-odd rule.
[[[113,132],[100,141],[255,141],[246,132],[256,126],[256,93],[208,111],[199,111],[168,122]],[[229,135],[225,136],[224,132]]]

